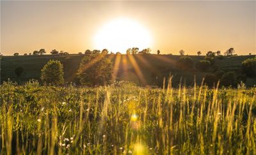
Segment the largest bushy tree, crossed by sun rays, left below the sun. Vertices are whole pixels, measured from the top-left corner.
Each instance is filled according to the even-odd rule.
[[[82,85],[95,86],[110,84],[113,64],[103,54],[92,54],[83,57],[77,77]]]

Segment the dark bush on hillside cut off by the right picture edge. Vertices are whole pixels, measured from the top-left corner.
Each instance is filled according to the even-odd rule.
[[[256,57],[252,59],[246,59],[242,63],[242,70],[248,77],[256,76]]]

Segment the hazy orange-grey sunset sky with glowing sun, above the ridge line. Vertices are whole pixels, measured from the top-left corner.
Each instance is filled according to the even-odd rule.
[[[1,1],[1,53],[136,44],[163,54],[256,54],[255,10],[256,1]]]

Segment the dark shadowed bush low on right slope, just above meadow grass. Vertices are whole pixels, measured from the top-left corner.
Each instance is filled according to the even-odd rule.
[[[221,77],[221,85],[224,85],[225,87],[232,86],[236,87],[237,85],[237,78],[236,73],[234,71],[229,71]]]

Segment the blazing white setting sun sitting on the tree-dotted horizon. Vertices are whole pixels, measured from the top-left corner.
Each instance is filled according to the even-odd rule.
[[[94,36],[94,47],[107,48],[111,52],[125,53],[127,48],[152,47],[152,36],[139,22],[118,18],[102,26]]]

